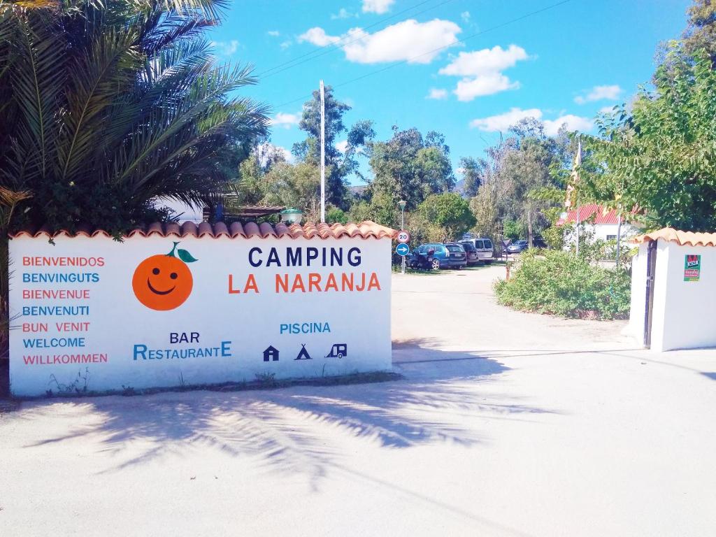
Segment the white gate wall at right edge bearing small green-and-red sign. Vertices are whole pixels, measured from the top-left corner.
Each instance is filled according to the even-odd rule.
[[[646,251],[647,244],[642,244],[632,266],[629,332],[637,337],[637,328],[644,323]],[[699,281],[684,281],[684,258],[687,254],[701,256]],[[680,246],[659,239],[654,273],[652,350],[716,347],[715,300],[716,248]]]

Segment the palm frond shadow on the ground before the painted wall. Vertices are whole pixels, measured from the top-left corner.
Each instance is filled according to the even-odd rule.
[[[32,419],[37,413],[57,412],[53,405],[67,405],[62,414],[69,416],[68,422],[74,412],[83,417],[77,422],[84,423],[76,422],[64,435],[41,435],[26,448],[80,437],[113,455],[113,464],[102,473],[170,453],[214,448],[254,458],[267,471],[305,473],[315,486],[328,468],[341,465],[342,441],[335,441],[337,437],[360,437],[385,449],[427,442],[473,445],[485,441],[469,423],[475,417],[529,420],[533,413],[549,412],[513,397],[486,398],[479,384],[508,371],[495,359],[425,344],[427,340],[394,344],[395,368],[404,378],[393,382],[42,400],[24,403],[19,417]]]

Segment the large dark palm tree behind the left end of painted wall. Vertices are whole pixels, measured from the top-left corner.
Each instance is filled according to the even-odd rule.
[[[17,225],[120,233],[221,192],[266,108],[205,29],[226,0],[0,0],[0,186]]]

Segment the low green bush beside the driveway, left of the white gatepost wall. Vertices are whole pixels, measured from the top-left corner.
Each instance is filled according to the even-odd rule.
[[[630,286],[624,269],[604,269],[566,251],[526,251],[511,279],[495,282],[495,294],[500,304],[525,311],[624,319]]]

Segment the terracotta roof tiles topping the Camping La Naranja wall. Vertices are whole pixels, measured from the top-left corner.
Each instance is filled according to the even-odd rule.
[[[66,230],[56,231],[51,233],[47,228],[39,228],[37,230],[21,230],[16,233],[11,233],[11,237],[21,236],[106,236],[109,237],[110,233],[102,229],[90,229],[87,227],[78,226],[76,233],[69,233]],[[275,226],[268,222],[263,222],[258,225],[256,222],[247,222],[241,224],[238,222],[232,223],[230,226],[226,226],[223,222],[217,222],[211,225],[208,222],[202,222],[198,226],[193,222],[185,222],[181,226],[176,223],[150,223],[147,226],[133,229],[127,233],[127,237],[133,236],[161,236],[161,237],[221,237],[227,236],[230,238],[250,238],[250,237],[288,237],[288,238],[395,238],[397,231],[392,228],[380,226],[379,224],[371,221],[364,221],[361,223],[347,223],[346,225],[340,223],[325,224],[325,223],[305,223],[292,224],[286,226],[283,222],[277,223]]]

